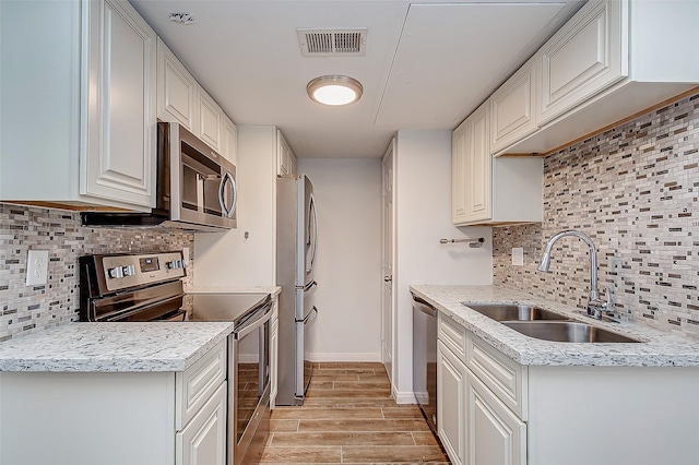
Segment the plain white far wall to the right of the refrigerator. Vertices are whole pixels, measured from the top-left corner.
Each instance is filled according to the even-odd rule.
[[[381,312],[381,162],[299,158],[318,206],[318,320],[309,357],[379,361]]]

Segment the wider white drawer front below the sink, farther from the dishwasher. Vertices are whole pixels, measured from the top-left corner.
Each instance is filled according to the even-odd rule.
[[[466,367],[487,385],[498,398],[526,421],[526,368],[510,360],[470,334],[466,341]]]

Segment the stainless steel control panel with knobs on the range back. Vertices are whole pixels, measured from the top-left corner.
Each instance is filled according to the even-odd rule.
[[[182,252],[96,257],[107,290],[170,281],[186,275]]]

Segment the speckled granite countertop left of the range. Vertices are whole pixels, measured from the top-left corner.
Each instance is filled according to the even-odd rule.
[[[0,344],[0,371],[185,371],[233,322],[70,323]]]

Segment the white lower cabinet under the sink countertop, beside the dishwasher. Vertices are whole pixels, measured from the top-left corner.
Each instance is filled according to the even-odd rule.
[[[453,464],[697,463],[699,367],[522,366],[442,313],[437,354]]]

